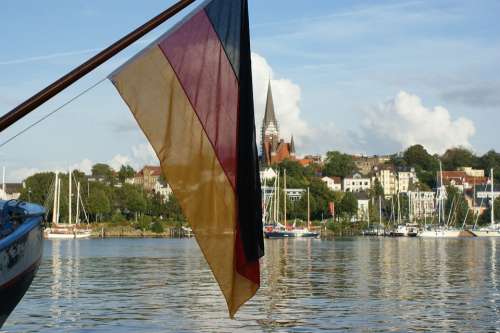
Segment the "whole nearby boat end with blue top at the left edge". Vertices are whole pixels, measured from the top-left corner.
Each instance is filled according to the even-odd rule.
[[[0,327],[28,290],[42,259],[43,207],[0,201]]]

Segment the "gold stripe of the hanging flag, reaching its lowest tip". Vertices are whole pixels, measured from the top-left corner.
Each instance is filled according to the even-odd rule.
[[[200,120],[158,46],[111,79],[160,159],[233,316],[258,286],[234,269],[235,193]]]

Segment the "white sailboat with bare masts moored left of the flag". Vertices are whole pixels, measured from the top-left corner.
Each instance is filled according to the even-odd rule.
[[[75,223],[72,223],[72,172],[69,170],[69,195],[68,195],[68,223],[60,223],[60,202],[61,202],[61,179],[56,173],[54,182],[54,208],[52,213],[52,225],[44,230],[44,236],[47,239],[75,239],[89,238],[92,231],[89,228],[80,228],[80,204],[85,216],[85,207],[80,196],[80,182],[77,182],[76,195],[76,216]],[[87,223],[88,223],[88,218]]]

